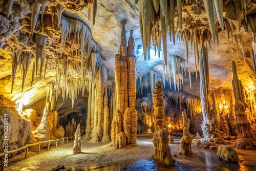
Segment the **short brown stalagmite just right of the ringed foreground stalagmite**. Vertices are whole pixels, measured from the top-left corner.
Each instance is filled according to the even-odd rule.
[[[187,119],[187,114],[185,111],[182,112],[183,118],[183,137],[180,140],[181,149],[179,151],[180,155],[192,155],[191,151],[191,138],[189,135],[189,120]]]

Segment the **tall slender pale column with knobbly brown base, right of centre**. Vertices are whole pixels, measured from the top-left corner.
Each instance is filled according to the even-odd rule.
[[[200,98],[202,104],[203,123],[201,125],[204,141],[214,141],[215,143],[225,144],[224,139],[219,132],[219,113],[216,113],[216,103],[213,104],[214,111],[211,111],[210,104],[210,84],[209,84],[209,65],[208,65],[208,52],[207,45],[201,35],[201,54],[199,58],[199,71],[200,71]],[[215,97],[215,96],[214,96]],[[216,99],[213,99],[215,102]],[[211,115],[211,112],[213,114]]]

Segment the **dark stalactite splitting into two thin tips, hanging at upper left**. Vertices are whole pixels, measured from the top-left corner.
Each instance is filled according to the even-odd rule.
[[[42,67],[44,66],[45,62],[45,55],[44,55],[44,49],[46,46],[46,43],[48,41],[47,36],[43,36],[41,34],[35,34],[36,38],[36,49],[35,49],[35,78],[37,76],[37,70],[38,70],[38,60],[40,59],[40,72],[39,72],[39,80],[41,79],[41,73],[42,73]]]

